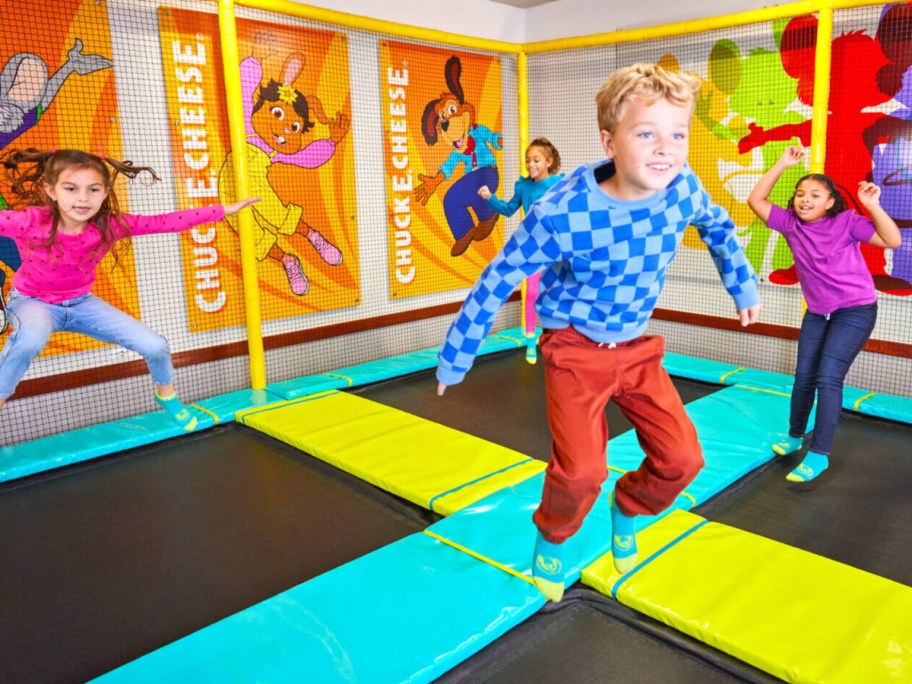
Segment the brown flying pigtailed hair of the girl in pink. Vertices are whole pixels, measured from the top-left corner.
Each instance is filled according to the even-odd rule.
[[[82,150],[10,150],[2,158],[3,171],[10,183],[10,206],[23,208],[25,206],[44,206],[51,211],[51,233],[47,241],[38,247],[47,249],[57,240],[57,230],[60,226],[60,210],[45,191],[45,185],[53,186],[61,172],[66,169],[93,169],[99,173],[104,181],[107,197],[102,202],[98,213],[92,217],[95,227],[101,234],[101,243],[98,250],[112,249],[120,235],[129,235],[129,229],[118,218],[120,207],[117,196],[114,194],[114,181],[121,174],[127,178],[136,178],[140,173],[148,172],[153,181],[159,180],[155,171],[147,166],[134,166],[130,161],[118,161],[107,157],[100,157]],[[109,168],[110,167],[110,168]],[[129,249],[128,241],[124,241],[122,251]],[[97,252],[96,252],[97,253]],[[117,263],[117,252],[114,251],[114,263]]]

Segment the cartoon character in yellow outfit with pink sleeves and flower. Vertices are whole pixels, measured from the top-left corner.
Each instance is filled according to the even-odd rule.
[[[253,209],[257,261],[267,257],[278,261],[285,269],[291,291],[300,297],[307,294],[310,283],[298,256],[279,245],[279,235],[303,236],[331,266],[342,263],[342,252],[304,220],[303,207],[282,201],[275,190],[275,174],[281,173],[283,167],[315,169],[325,164],[348,133],[351,122],[341,112],[330,119],[315,95],[304,95],[295,87],[304,69],[301,53],[294,52],[285,58],[278,79],[264,77],[263,61],[271,56],[275,41],[272,34],[257,33],[252,54],[240,65],[249,190],[251,195],[262,198]],[[307,140],[305,136],[315,126],[311,114],[329,128],[328,138]],[[231,153],[219,174],[219,197],[223,203],[234,201]],[[226,220],[237,230],[234,217]]]

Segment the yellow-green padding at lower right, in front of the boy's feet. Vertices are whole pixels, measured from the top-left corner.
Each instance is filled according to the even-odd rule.
[[[912,681],[912,588],[686,511],[582,581],[789,682]]]

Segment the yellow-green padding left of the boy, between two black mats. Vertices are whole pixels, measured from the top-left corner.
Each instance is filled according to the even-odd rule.
[[[518,451],[346,392],[271,404],[237,419],[443,515],[545,469]]]

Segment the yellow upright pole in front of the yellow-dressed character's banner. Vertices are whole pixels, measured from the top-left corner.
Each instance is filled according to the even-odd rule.
[[[219,2],[219,38],[222,44],[222,68],[225,76],[228,125],[234,166],[235,197],[249,197],[247,175],[247,141],[245,139],[244,100],[241,95],[241,60],[238,54],[237,23],[234,0]],[[247,350],[250,354],[250,387],[266,387],[266,359],[263,352],[263,326],[260,316],[260,290],[257,285],[257,260],[253,240],[253,214],[244,209],[238,214],[241,242],[241,273],[244,282],[244,309],[247,315]]]

